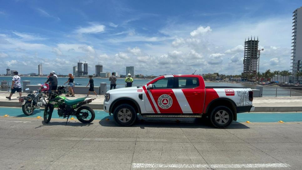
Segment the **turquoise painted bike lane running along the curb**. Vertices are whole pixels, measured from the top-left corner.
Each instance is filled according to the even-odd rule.
[[[22,108],[0,107],[0,116],[9,115],[10,117],[29,117],[36,118],[43,117],[44,109],[36,109],[30,116],[26,116],[22,112]],[[95,120],[102,120],[104,118],[113,119],[108,113],[103,110],[94,110]],[[57,110],[53,111],[52,118],[63,118],[58,116]],[[251,113],[238,113],[237,122],[302,122],[302,112],[251,112]]]

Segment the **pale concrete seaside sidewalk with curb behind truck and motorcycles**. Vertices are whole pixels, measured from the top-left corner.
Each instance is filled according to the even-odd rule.
[[[24,93],[25,95],[26,93]],[[0,92],[0,106],[7,107],[20,107],[17,96],[15,93],[12,100],[5,97],[9,96],[8,92]],[[95,95],[89,95],[96,98]],[[83,94],[76,94],[76,97],[68,97],[68,99],[76,99],[84,97]],[[89,103],[93,109],[103,109],[104,95],[99,95],[96,100]],[[254,112],[302,112],[302,97],[262,97],[254,98],[253,106]]]

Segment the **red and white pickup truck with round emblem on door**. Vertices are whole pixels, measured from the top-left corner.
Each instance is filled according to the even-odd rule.
[[[199,75],[159,76],[141,87],[109,90],[104,111],[120,126],[131,126],[137,113],[144,117],[201,118],[217,128],[237,120],[237,113],[254,111],[250,88],[205,87]]]

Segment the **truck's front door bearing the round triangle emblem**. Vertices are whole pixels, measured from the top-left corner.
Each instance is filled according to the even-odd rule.
[[[174,77],[164,77],[152,83],[152,89],[147,89],[145,107],[153,113],[181,113],[180,106],[173,92]],[[146,103],[148,102],[148,103]]]

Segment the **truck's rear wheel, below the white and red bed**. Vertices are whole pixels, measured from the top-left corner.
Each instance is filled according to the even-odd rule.
[[[216,128],[226,128],[233,121],[233,112],[225,106],[217,106],[210,113],[209,119]]]

